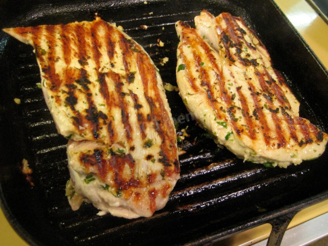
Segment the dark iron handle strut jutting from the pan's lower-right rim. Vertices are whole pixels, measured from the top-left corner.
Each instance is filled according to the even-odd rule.
[[[281,244],[282,237],[298,211],[294,211],[288,215],[282,216],[270,222],[272,230],[267,242],[267,246],[279,246]]]

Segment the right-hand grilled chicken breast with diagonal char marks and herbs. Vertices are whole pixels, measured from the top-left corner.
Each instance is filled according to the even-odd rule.
[[[217,144],[267,166],[319,157],[328,135],[299,117],[299,103],[264,45],[239,17],[202,11],[176,23],[176,76],[186,107]]]

